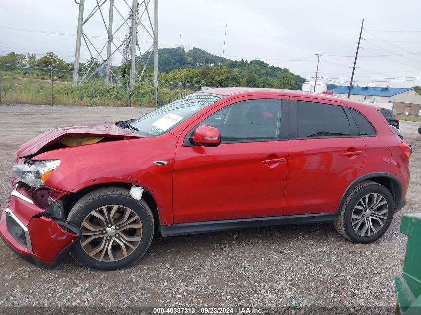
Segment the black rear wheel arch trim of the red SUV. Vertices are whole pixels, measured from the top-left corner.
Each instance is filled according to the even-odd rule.
[[[340,212],[340,210],[342,209],[345,203],[347,196],[355,188],[355,186],[360,184],[361,182],[368,181],[368,180],[386,187],[391,193],[392,198],[395,202],[394,208],[396,209],[398,207],[402,199],[402,186],[398,178],[390,173],[376,172],[376,173],[365,174],[358,177],[347,187],[347,189],[343,193],[342,198],[339,202],[336,213]]]

